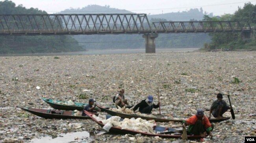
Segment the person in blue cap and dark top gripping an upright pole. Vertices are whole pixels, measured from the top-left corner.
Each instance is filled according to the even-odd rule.
[[[140,103],[135,105],[133,110],[135,111],[139,108],[139,112],[150,114],[153,108],[156,109],[160,106],[160,102],[158,102],[158,105],[155,105],[155,103],[153,101],[154,101],[153,96],[148,95],[148,98],[145,100],[141,100]]]

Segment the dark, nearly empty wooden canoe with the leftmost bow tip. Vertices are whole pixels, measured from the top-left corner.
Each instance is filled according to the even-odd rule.
[[[19,107],[18,108],[30,112],[36,116],[46,119],[91,119],[89,116],[74,116],[74,111],[64,110],[52,110],[52,109],[37,109],[30,107]]]

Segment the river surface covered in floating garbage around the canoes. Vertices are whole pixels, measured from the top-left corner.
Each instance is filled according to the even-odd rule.
[[[256,52],[163,52],[70,56],[0,56],[1,143],[182,143],[199,142],[109,133],[91,119],[45,119],[19,107],[52,109],[41,100],[113,105],[124,89],[130,104],[160,96],[161,114],[186,119],[204,110],[209,115],[218,93],[236,118],[214,123],[213,139],[244,141],[256,136]],[[159,114],[159,108],[152,113]],[[102,113],[104,114],[104,113]],[[213,116],[211,116],[213,118]],[[157,123],[182,129],[181,123]]]

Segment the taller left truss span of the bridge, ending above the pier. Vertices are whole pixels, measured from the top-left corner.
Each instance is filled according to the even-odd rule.
[[[0,15],[0,35],[151,33],[147,14]]]

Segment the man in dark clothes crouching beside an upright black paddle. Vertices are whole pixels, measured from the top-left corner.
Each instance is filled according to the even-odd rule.
[[[217,100],[213,101],[211,104],[210,114],[208,119],[211,118],[211,114],[213,117],[217,119],[224,119],[223,114],[228,110],[232,109],[232,107],[229,107],[227,103],[222,100],[223,96],[221,93],[217,94]]]

